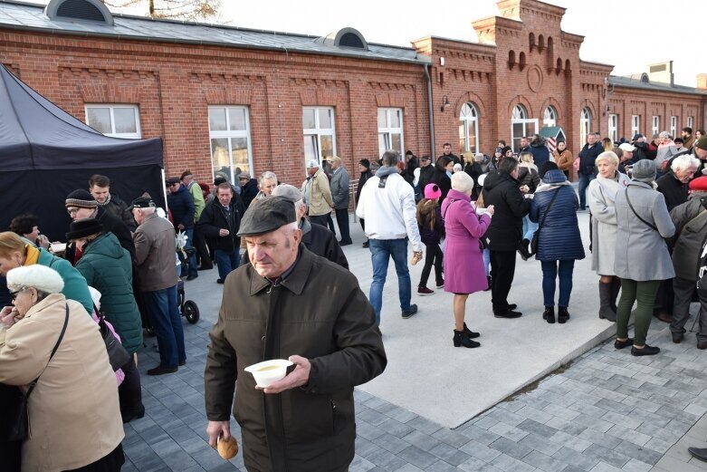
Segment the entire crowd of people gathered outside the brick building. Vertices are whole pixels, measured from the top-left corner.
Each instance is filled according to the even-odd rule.
[[[568,323],[575,261],[586,256],[578,212],[588,208],[598,316],[616,323],[616,349],[659,352],[645,339],[654,315],[682,342],[693,295],[702,303],[697,347],[707,349],[707,291],[696,288],[707,272],[707,137],[698,134],[663,132],[645,143],[590,133],[576,157],[566,142],[550,152],[534,135],[518,152],[499,141],[492,156],[456,156],[445,143],[437,159],[394,150],[361,159],[353,207],[371,255],[368,298],[341,249],[352,244],[352,202],[337,156],[309,160],[297,187],[272,171],[257,179],[239,172],[237,184],[217,173],[208,186],[187,169],[167,178],[167,214],[148,195],[128,205],[110,193],[109,178],[93,176],[66,197],[65,247],[42,236],[30,214],[0,233],[0,395],[26,398],[34,431],[0,440],[0,461],[9,471],[119,470],[121,424],[145,415],[143,328],[154,330],[160,360],[148,375],[186,365],[177,290],[214,265],[224,298],[205,368],[207,434],[213,447],[230,437],[235,404],[254,469],[349,467],[353,387],[386,367],[378,326],[391,258],[401,316],[417,313],[409,264],[424,260],[416,294],[435,294],[427,286],[434,268],[435,288],[453,294],[454,347],[478,348],[469,295],[490,290],[494,317],[520,317],[510,301],[519,257],[540,261],[542,320]],[[103,317],[129,355],[117,369],[97,324]],[[244,373],[276,358],[293,364],[282,380],[259,386]],[[57,438],[54,425],[71,425],[72,434]]]

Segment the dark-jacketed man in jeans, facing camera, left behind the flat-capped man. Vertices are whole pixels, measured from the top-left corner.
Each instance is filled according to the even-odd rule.
[[[234,196],[231,184],[224,182],[218,185],[215,200],[206,205],[199,217],[199,230],[214,243],[218,267],[216,284],[223,284],[226,275],[238,267],[241,238],[235,235],[243,214],[241,197]]]

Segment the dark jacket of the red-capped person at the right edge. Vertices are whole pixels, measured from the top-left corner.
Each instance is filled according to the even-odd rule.
[[[675,276],[685,280],[699,278],[700,255],[707,236],[707,209],[702,206],[705,197],[707,192],[694,192],[683,205],[670,212],[675,233],[680,235],[673,248],[673,267]]]

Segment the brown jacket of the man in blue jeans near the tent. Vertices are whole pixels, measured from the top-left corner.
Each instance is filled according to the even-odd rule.
[[[175,228],[165,218],[152,214],[133,235],[138,286],[154,292],[177,284],[177,243]]]

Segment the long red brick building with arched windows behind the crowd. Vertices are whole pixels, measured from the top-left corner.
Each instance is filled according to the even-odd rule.
[[[565,8],[498,6],[473,23],[479,43],[403,48],[352,28],[316,37],[113,15],[99,0],[3,2],[0,63],[101,132],[161,137],[169,175],[190,168],[208,182],[244,169],[299,185],[307,159],[336,153],[356,174],[383,149],[436,155],[446,141],[492,153],[545,125],[574,151],[588,130],[704,128],[707,75],[674,85],[665,63],[614,77],[579,59],[584,38],[561,31]]]

